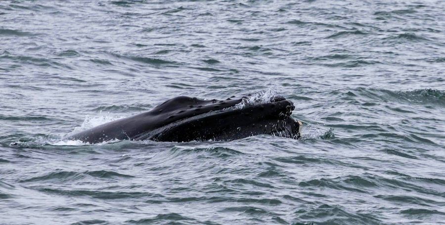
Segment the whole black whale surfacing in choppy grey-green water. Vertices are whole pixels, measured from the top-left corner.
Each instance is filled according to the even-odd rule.
[[[157,142],[232,141],[254,135],[301,138],[294,104],[282,96],[204,100],[179,96],[127,118],[111,121],[65,139],[95,144],[113,140]]]

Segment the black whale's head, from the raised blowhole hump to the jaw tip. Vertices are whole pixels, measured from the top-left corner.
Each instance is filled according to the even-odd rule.
[[[138,139],[228,141],[259,134],[299,139],[302,123],[291,117],[294,109],[294,104],[281,96],[261,100],[249,96],[225,100],[181,96],[148,112],[162,123]]]

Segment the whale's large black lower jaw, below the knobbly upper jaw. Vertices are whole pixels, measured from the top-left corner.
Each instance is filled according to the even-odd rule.
[[[293,103],[282,97],[274,100],[189,117],[151,132],[149,139],[164,142],[230,141],[260,134],[300,139],[302,123],[290,116],[295,109]]]

